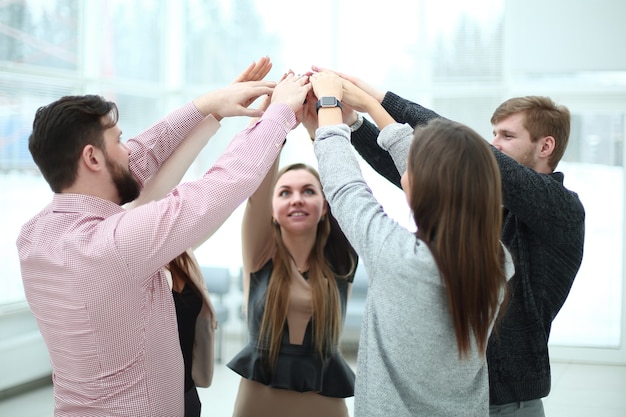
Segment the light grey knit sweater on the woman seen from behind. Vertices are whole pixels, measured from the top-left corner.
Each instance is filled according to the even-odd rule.
[[[412,128],[380,137],[404,171]],[[460,360],[448,301],[430,250],[383,211],[363,180],[345,125],[317,130],[324,193],[367,270],[369,288],[357,359],[356,417],[486,416],[485,355]],[[479,242],[477,242],[478,244]],[[507,274],[513,265],[507,255]]]

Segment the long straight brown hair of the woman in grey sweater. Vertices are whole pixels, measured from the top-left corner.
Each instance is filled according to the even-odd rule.
[[[407,174],[416,234],[430,248],[447,289],[459,356],[469,354],[472,334],[484,352],[506,291],[495,157],[469,127],[435,119],[416,129]]]

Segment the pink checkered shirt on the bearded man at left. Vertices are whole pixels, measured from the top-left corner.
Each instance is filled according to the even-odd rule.
[[[188,104],[128,141],[143,183],[202,115]],[[26,299],[53,368],[55,416],[183,415],[183,359],[163,265],[258,187],[295,124],[272,105],[203,178],[132,210],[55,194],[17,240]]]

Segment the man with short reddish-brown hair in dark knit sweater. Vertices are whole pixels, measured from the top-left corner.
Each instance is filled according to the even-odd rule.
[[[313,68],[316,70],[317,68]],[[340,74],[377,98],[400,123],[415,127],[441,117],[391,92]],[[400,187],[378,128],[355,111],[344,113],[352,144],[379,174]],[[550,392],[548,339],[583,256],[585,211],[554,172],[567,147],[570,113],[547,97],[517,97],[494,112],[492,150],[503,190],[502,242],[513,255],[508,309],[487,348],[490,415],[544,416]]]

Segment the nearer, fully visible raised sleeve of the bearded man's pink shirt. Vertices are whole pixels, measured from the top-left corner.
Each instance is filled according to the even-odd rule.
[[[129,266],[156,270],[213,234],[259,186],[295,122],[289,107],[271,105],[255,125],[235,136],[201,179],[119,214],[115,235],[125,236],[117,245],[129,254]]]

